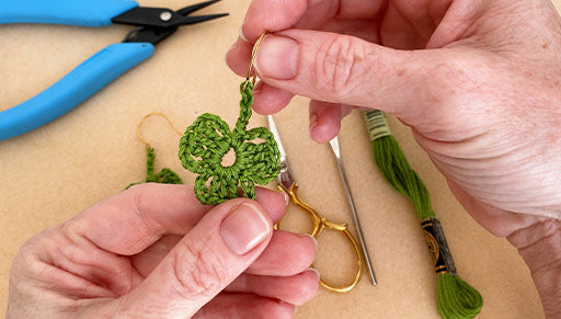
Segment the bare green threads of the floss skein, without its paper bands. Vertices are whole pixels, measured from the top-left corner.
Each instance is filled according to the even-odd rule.
[[[420,220],[436,219],[428,191],[409,164],[396,138],[389,134],[371,141],[376,166],[397,192],[408,196]],[[444,233],[443,233],[444,236]],[[449,255],[451,260],[451,255]],[[481,294],[455,272],[438,273],[437,308],[445,319],[476,317],[483,306]]]

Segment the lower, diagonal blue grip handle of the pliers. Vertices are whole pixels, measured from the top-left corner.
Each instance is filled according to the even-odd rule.
[[[66,114],[150,57],[153,49],[150,43],[117,43],[105,47],[47,90],[0,112],[0,140],[35,129]]]

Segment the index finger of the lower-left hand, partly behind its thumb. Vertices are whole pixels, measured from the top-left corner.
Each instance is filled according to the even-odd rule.
[[[280,218],[280,193],[257,187],[256,197],[273,220]],[[193,186],[140,184],[91,206],[62,227],[101,249],[131,255],[163,235],[185,235],[213,207],[198,202]]]

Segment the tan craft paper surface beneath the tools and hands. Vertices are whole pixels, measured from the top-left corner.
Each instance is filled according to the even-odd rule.
[[[181,8],[194,1],[139,1]],[[560,1],[556,1],[559,8]],[[23,136],[0,141],[0,314],[5,312],[10,265],[19,248],[45,228],[145,179],[145,146],[135,129],[151,112],[167,114],[184,129],[201,114],[218,114],[233,126],[239,113],[240,78],[224,55],[238,36],[248,0],[228,0],[202,11],[228,18],[184,29],[159,44],[154,55],[59,119]],[[0,26],[0,110],[43,91],[85,58],[122,41],[130,30],[56,25]],[[308,100],[296,98],[275,115],[302,198],[333,221],[352,224],[329,145],[308,135]],[[408,127],[388,118],[409,161],[426,183],[461,277],[484,299],[478,318],[543,318],[529,272],[506,240],[469,217],[445,179],[416,145]],[[248,127],[265,126],[254,114]],[[185,183],[194,175],[178,159],[179,136],[158,117],[142,126],[156,148],[156,170],[169,167]],[[363,275],[340,295],[320,289],[298,307],[296,318],[439,318],[436,276],[419,220],[409,201],[393,192],[377,171],[363,116],[343,121],[342,157],[378,280]],[[271,185],[274,186],[274,185]],[[289,206],[284,226],[305,219]],[[355,229],[351,226],[355,233]],[[354,271],[352,252],[337,236],[319,240],[319,271],[344,283]],[[1,315],[0,315],[1,316]]]

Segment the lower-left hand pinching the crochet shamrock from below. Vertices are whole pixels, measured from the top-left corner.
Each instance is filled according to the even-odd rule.
[[[273,231],[279,193],[204,206],[141,184],[35,236],[12,265],[8,318],[291,318],[314,242]]]

